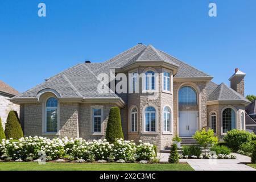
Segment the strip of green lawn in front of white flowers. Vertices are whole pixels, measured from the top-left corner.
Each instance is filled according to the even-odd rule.
[[[188,164],[0,163],[0,171],[193,171]]]

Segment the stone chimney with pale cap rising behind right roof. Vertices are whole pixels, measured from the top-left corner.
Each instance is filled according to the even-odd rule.
[[[229,78],[230,87],[242,96],[245,96],[245,75],[245,73],[236,68],[235,73]]]

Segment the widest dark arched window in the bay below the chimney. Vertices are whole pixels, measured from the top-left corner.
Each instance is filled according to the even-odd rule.
[[[236,114],[233,109],[227,108],[222,113],[222,132],[227,133],[232,129],[236,129]]]

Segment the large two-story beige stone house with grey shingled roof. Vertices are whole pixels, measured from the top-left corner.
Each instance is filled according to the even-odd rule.
[[[127,93],[99,92],[102,73],[110,76],[112,90],[113,83],[124,81],[118,75],[125,75],[127,83],[121,87],[127,87]],[[203,127],[211,127],[218,137],[232,129],[245,130],[245,106],[250,102],[243,97],[243,77],[237,69],[230,78],[233,89],[217,85],[191,65],[138,44],[108,61],[75,65],[13,101],[20,104],[25,135],[101,139],[110,107],[118,106],[125,139],[162,149],[175,135],[192,137]]]

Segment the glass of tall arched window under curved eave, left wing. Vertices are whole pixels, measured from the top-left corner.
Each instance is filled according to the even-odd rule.
[[[55,97],[50,97],[46,101],[46,132],[57,132],[57,112],[58,101]]]

